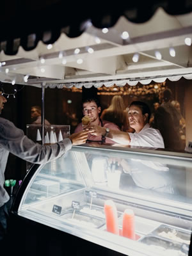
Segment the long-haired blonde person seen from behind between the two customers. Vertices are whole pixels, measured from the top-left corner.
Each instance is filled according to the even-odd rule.
[[[128,113],[125,109],[124,100],[120,95],[113,96],[109,108],[102,111],[100,118],[118,125],[121,131],[134,132],[129,126]]]

